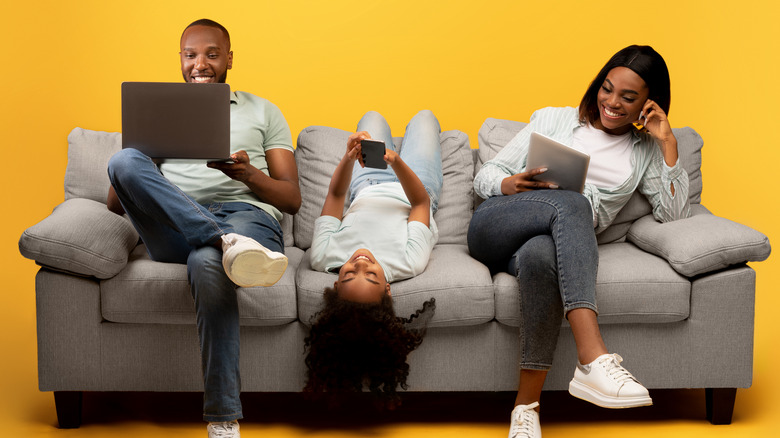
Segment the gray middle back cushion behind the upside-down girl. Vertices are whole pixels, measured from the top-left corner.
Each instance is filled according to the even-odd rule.
[[[314,221],[320,216],[333,171],[346,151],[350,132],[325,126],[310,126],[298,135],[295,161],[303,202],[295,215],[295,244],[311,246]],[[439,228],[439,243],[465,244],[473,210],[473,156],[468,136],[460,131],[445,131],[439,136],[442,148],[444,185],[439,210],[434,220]],[[396,147],[401,138],[394,138]]]

